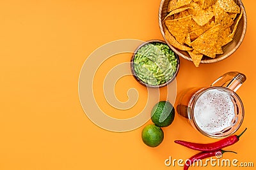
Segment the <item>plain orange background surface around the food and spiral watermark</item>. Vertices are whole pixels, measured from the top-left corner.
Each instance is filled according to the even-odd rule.
[[[199,68],[180,59],[177,86],[179,92],[209,85],[228,71],[246,74],[248,79],[237,92],[245,107],[244,122],[237,133],[245,127],[248,131],[239,143],[228,147],[238,154],[225,153],[224,158],[256,164],[256,1],[243,3],[248,29],[239,50],[228,59]],[[163,143],[149,148],[141,141],[142,127],[122,133],[105,131],[81,108],[77,85],[86,57],[116,39],[163,39],[157,20],[159,4],[160,0],[0,2],[1,170],[182,169],[166,167],[164,160],[169,156],[187,159],[197,152],[176,145],[175,139],[216,141],[198,134],[177,115],[173,124],[163,129]],[[121,60],[129,61],[129,57]],[[137,88],[142,98],[147,96],[145,89],[128,77],[116,84],[121,101],[127,99],[122,85]],[[162,93],[164,96],[164,90]],[[97,102],[100,100],[104,99],[99,97]]]

